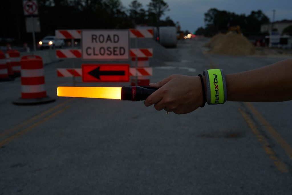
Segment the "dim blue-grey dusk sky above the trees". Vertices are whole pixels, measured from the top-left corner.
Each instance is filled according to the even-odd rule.
[[[132,0],[121,0],[128,8]],[[138,0],[147,8],[149,0]],[[292,20],[292,0],[165,0],[170,11],[163,16],[170,16],[174,22],[179,21],[182,30],[193,32],[204,26],[204,13],[210,8],[226,10],[248,15],[252,10],[262,10],[272,21],[272,10],[276,10],[275,20]]]

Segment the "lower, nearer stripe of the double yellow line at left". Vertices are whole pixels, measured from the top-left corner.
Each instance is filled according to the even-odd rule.
[[[42,119],[42,120],[40,120],[40,121],[34,123],[33,125],[31,125],[31,126],[25,128],[24,130],[17,132],[16,134],[12,135],[11,137],[8,137],[7,139],[4,139],[3,141],[0,142],[0,148],[1,148],[2,146],[4,146],[4,145],[8,144],[8,143],[11,142],[12,140],[18,138],[19,136],[21,136],[21,135],[23,135],[23,134],[29,132],[30,130],[32,130],[33,128],[39,126],[40,124],[46,122],[47,120],[53,118],[54,116],[56,116],[56,115],[62,113],[63,111],[65,111],[65,110],[66,110],[67,108],[69,108],[69,107],[70,107],[70,106],[65,106],[65,107],[62,108],[61,110],[58,110],[58,111],[54,112],[53,114],[51,114],[51,115],[47,116],[46,118],[44,118],[44,119]]]

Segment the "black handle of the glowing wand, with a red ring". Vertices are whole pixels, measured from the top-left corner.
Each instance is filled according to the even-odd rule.
[[[157,88],[154,87],[122,87],[121,100],[140,101],[147,99]]]

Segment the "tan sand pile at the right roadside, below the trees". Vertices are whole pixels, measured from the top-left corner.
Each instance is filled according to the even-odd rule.
[[[209,47],[211,54],[223,54],[232,56],[252,55],[254,46],[246,37],[236,33],[217,34],[205,45]]]

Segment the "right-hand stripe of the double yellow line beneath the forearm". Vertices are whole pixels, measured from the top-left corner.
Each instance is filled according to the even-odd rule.
[[[280,144],[280,146],[284,149],[286,154],[292,159],[292,147],[288,144],[288,142],[281,137],[281,135],[270,125],[270,123],[260,114],[259,111],[249,102],[244,102],[246,106],[251,110],[251,112],[256,115],[258,120],[263,124],[267,132]]]

